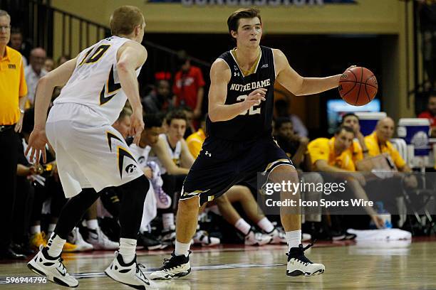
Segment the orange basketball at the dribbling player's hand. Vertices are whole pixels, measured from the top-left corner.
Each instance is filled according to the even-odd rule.
[[[377,79],[368,68],[348,68],[339,80],[339,94],[353,106],[363,106],[377,94]]]

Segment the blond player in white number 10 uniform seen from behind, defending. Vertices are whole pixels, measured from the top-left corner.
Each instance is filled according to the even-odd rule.
[[[99,196],[100,190],[118,186],[123,190],[120,210],[120,249],[105,273],[115,281],[146,289],[150,281],[136,262],[136,239],[149,181],[128,151],[123,136],[111,125],[126,100],[133,107],[130,135],[137,143],[144,122],[137,75],[147,59],[140,44],[145,21],[140,9],[122,6],[110,17],[113,36],[83,50],[73,60],[51,71],[38,82],[35,126],[28,149],[31,158],[42,155],[45,145],[56,151],[59,177],[70,198],[56,229],[28,267],[63,286],[78,286],[63,266],[61,251],[66,237],[83,213]],[[53,88],[63,86],[46,120]]]

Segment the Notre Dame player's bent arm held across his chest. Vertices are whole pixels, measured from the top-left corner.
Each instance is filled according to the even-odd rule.
[[[232,77],[232,72],[224,60],[218,59],[210,69],[209,88],[209,119],[212,122],[228,121],[242,114],[252,106],[265,100],[265,89],[257,89],[251,92],[244,102],[237,104],[225,104],[227,97],[227,84]]]

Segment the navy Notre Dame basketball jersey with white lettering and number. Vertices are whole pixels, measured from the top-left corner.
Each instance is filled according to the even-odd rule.
[[[274,80],[276,78],[272,49],[261,46],[261,56],[254,73],[245,77],[231,51],[223,53],[219,58],[222,58],[229,65],[232,72],[232,77],[229,84],[227,84],[225,104],[243,102],[250,92],[261,87],[267,90],[265,95],[266,100],[229,121],[211,122],[208,117],[206,126],[209,136],[230,141],[250,141],[262,136],[271,135],[274,109]]]

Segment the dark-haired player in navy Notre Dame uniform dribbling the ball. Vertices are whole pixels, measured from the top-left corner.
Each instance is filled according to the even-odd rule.
[[[223,53],[210,71],[209,117],[202,151],[188,174],[177,212],[175,252],[150,279],[172,279],[190,273],[190,240],[198,209],[235,183],[256,186],[256,173],[274,182],[298,182],[294,166],[271,136],[274,82],[294,95],[312,95],[338,87],[339,77],[301,77],[284,53],[259,45],[261,17],[257,9],[239,9],[227,20],[237,48]],[[285,178],[284,178],[285,177]],[[283,194],[283,193],[282,193]],[[299,198],[299,194],[294,195]],[[281,210],[289,247],[286,274],[312,276],[324,272],[304,255],[300,215]],[[309,246],[310,247],[310,246]]]

